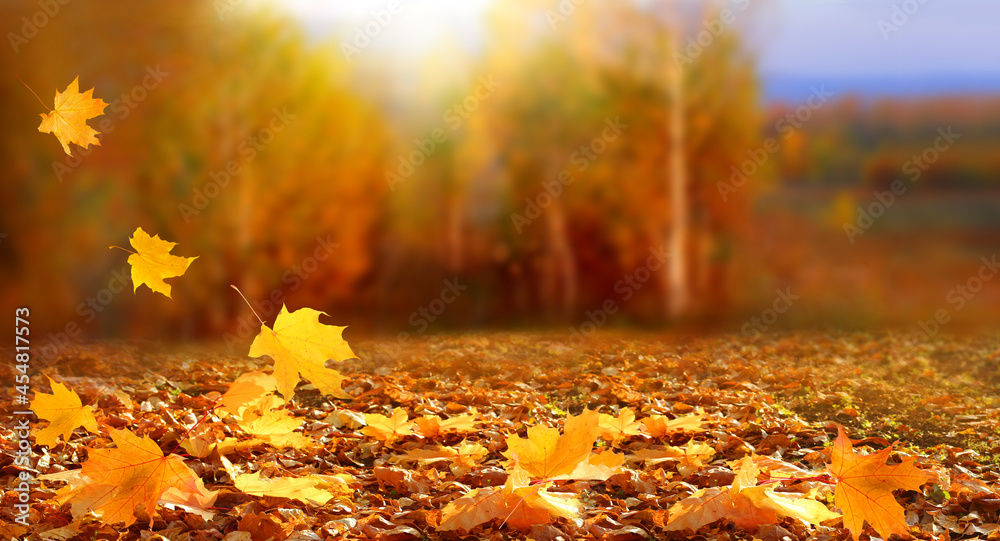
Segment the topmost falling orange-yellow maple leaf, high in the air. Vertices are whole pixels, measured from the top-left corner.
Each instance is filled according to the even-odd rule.
[[[94,89],[80,93],[80,78],[73,82],[63,92],[56,92],[55,107],[48,113],[43,113],[42,123],[38,131],[51,133],[59,139],[66,154],[72,156],[70,143],[76,143],[83,148],[90,145],[101,146],[97,140],[97,130],[87,125],[87,120],[104,114],[108,104],[100,99],[94,99]]]

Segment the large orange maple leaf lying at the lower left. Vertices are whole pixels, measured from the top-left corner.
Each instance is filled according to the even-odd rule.
[[[111,439],[117,448],[88,448],[89,458],[80,470],[40,477],[70,483],[57,492],[56,502],[69,502],[74,517],[93,511],[105,523],[128,527],[139,505],[152,522],[158,501],[201,510],[215,501],[215,491],[205,488],[183,458],[163,456],[148,437],[112,429]]]

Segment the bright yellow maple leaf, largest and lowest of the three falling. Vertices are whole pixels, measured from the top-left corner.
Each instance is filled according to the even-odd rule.
[[[274,320],[274,329],[261,325],[260,334],[250,345],[250,356],[267,355],[274,360],[274,377],[278,392],[285,400],[295,393],[299,377],[309,380],[323,394],[351,399],[341,383],[344,376],[326,367],[326,361],[342,361],[355,357],[343,338],[344,329],[319,322],[326,315],[312,308],[289,312],[285,305]]]

